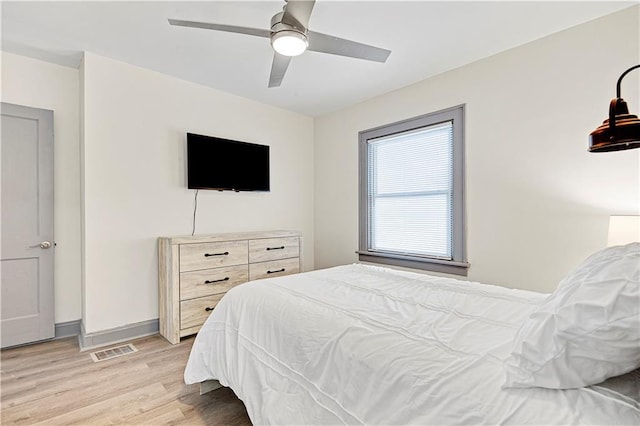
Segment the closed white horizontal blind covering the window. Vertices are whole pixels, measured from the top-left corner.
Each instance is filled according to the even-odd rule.
[[[453,122],[371,139],[369,250],[452,259]]]

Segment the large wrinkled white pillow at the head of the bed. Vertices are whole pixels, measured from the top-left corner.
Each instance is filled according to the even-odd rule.
[[[516,334],[505,387],[581,388],[640,367],[640,243],[587,258]]]

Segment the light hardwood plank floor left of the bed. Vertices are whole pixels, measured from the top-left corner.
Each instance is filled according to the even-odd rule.
[[[132,340],[138,352],[98,363],[75,337],[5,349],[0,423],[250,425],[230,389],[200,396],[198,385],[184,384],[193,340]]]

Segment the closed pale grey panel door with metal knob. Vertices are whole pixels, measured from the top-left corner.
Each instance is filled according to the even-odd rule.
[[[2,103],[1,347],[54,337],[53,111]]]

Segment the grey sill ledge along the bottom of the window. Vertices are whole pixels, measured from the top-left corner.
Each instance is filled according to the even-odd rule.
[[[400,266],[403,268],[421,269],[424,271],[440,272],[467,276],[469,263],[451,260],[431,259],[427,257],[402,254],[381,253],[372,251],[356,251],[363,262],[381,263],[384,265]]]

